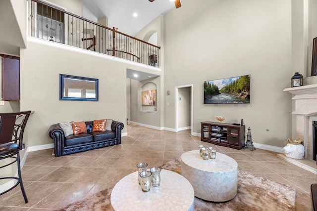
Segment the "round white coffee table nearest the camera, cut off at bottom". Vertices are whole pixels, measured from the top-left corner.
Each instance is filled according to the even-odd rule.
[[[143,192],[138,183],[138,171],[118,181],[110,196],[114,211],[194,211],[194,189],[182,175],[170,170],[160,172],[160,185]]]

